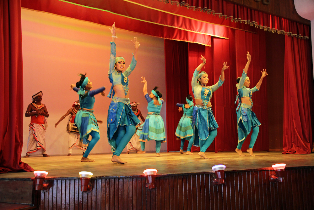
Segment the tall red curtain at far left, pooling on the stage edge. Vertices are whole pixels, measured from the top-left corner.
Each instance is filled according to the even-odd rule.
[[[0,173],[34,171],[21,162],[23,147],[23,64],[21,5],[0,1]]]

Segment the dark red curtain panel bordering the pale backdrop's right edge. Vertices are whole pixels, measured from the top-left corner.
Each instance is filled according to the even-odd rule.
[[[176,103],[186,103],[189,93],[188,44],[165,39],[167,152],[180,150],[176,127],[182,116]],[[191,82],[190,82],[191,83]],[[192,94],[192,92],[191,92]]]

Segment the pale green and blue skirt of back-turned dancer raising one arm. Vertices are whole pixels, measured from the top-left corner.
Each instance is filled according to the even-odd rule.
[[[150,140],[166,142],[164,120],[158,113],[147,114],[145,122],[140,126],[136,134],[139,136],[139,141],[147,142]]]

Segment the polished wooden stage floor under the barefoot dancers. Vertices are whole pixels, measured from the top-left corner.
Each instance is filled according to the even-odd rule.
[[[246,152],[245,152],[246,153]],[[126,164],[113,164],[112,154],[89,155],[95,162],[80,162],[82,156],[51,156],[22,158],[34,170],[44,170],[47,177],[75,178],[78,172],[89,171],[94,177],[143,176],[147,168],[158,170],[157,175],[191,174],[213,172],[211,167],[224,164],[225,171],[238,170],[272,170],[276,163],[286,163],[286,167],[314,166],[314,153],[309,155],[291,155],[281,152],[254,152],[256,156],[239,156],[236,152],[206,152],[210,159],[200,159],[195,155],[180,154],[179,152],[162,152],[162,157],[156,153],[121,154]],[[247,154],[248,155],[248,154]],[[0,179],[25,179],[34,177],[33,172],[2,173]]]

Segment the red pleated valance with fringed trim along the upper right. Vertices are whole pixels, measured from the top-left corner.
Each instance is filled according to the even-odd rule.
[[[213,14],[214,16],[246,23],[279,34],[287,33],[292,36],[306,39],[308,39],[310,35],[310,28],[307,25],[249,9],[224,0],[170,0],[166,2],[193,10],[201,10]]]

